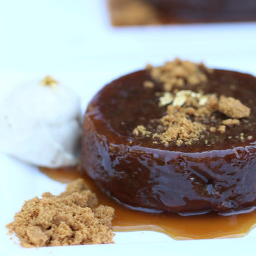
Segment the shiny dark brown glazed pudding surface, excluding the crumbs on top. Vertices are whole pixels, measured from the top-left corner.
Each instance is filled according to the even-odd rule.
[[[256,204],[256,78],[249,74],[214,70],[204,93],[241,100],[251,108],[241,125],[225,134],[204,134],[192,145],[154,144],[152,138],[135,138],[132,130],[150,119],[161,118],[146,70],[122,76],[103,87],[92,99],[84,119],[82,166],[97,185],[122,204],[141,210],[200,214],[232,214]],[[190,88],[186,88],[190,89]],[[217,124],[226,119],[216,114]],[[211,124],[209,124],[211,125]],[[243,133],[252,140],[236,138]],[[231,138],[230,138],[231,137]]]

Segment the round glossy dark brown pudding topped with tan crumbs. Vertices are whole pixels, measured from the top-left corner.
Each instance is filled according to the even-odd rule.
[[[134,209],[252,210],[255,89],[250,74],[178,58],[122,76],[89,103],[82,172]]]

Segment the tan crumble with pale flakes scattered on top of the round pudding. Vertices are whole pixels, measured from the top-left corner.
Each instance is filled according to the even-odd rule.
[[[199,92],[186,89],[186,85],[192,89],[202,84],[207,86],[207,75],[213,71],[203,63],[196,64],[176,58],[156,68],[147,65],[146,70],[150,72],[153,81],[162,84],[162,92],[156,92],[155,95],[159,100],[159,108],[166,108],[166,114],[150,121],[156,122],[154,127],[150,123],[135,127],[133,134],[136,137],[152,137],[153,143],[164,143],[166,146],[171,142],[177,146],[191,145],[204,138],[206,132],[225,134],[227,127],[231,129],[239,126],[239,119],[250,115],[250,108],[236,98],[203,94],[202,88]],[[154,83],[145,81],[143,86],[153,87]],[[226,119],[216,122],[217,113],[225,114]],[[244,135],[239,138],[244,140]],[[204,142],[209,144],[208,140]]]

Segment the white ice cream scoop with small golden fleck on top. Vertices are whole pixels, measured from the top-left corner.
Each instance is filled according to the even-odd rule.
[[[36,166],[76,164],[78,96],[50,76],[16,87],[0,105],[0,150]]]

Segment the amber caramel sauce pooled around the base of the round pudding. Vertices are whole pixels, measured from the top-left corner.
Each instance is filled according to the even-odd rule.
[[[236,238],[245,236],[256,226],[256,211],[231,216],[204,214],[182,217],[176,214],[150,214],[127,209],[102,193],[92,179],[76,172],[76,168],[40,168],[40,170],[53,180],[62,183],[83,178],[90,190],[97,194],[100,204],[114,208],[113,231],[158,231],[174,239],[183,240]]]

